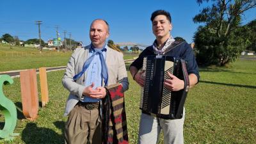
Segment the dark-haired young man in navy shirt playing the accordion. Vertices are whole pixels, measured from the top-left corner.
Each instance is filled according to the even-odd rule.
[[[152,31],[156,36],[154,44],[147,47],[140,56],[131,64],[131,75],[140,86],[144,86],[144,79],[141,77],[142,72],[138,72],[143,66],[143,57],[148,55],[167,55],[184,58],[188,63],[189,86],[192,87],[198,83],[199,73],[198,66],[191,46],[186,42],[175,42],[170,35],[172,31],[172,19],[170,13],[164,10],[157,10],[152,13]],[[168,74],[170,79],[164,80],[164,86],[172,91],[179,91],[184,88],[184,81]],[[159,140],[161,129],[164,133],[164,143],[184,143],[183,138],[183,124],[184,114],[181,119],[164,120],[163,118],[156,118],[155,116],[141,113],[140,131],[138,143],[141,144],[155,144]]]

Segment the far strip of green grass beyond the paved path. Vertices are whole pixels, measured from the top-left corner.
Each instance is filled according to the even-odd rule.
[[[6,56],[7,54],[7,56]],[[42,54],[35,48],[13,47],[0,45],[0,72],[8,70],[24,70],[40,67],[65,66],[71,52],[43,51]],[[138,54],[124,54],[124,60],[138,57]]]

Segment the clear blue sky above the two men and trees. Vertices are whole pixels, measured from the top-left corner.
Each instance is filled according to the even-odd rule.
[[[193,42],[199,24],[193,17],[200,12],[195,0],[180,1],[1,1],[0,36],[10,33],[20,40],[38,38],[35,20],[42,20],[42,39],[56,38],[56,26],[63,39],[63,31],[71,33],[72,39],[90,44],[89,27],[93,19],[101,18],[110,26],[109,39],[114,42],[135,42],[150,45],[154,41],[150,15],[155,10],[167,10],[172,15],[172,35]],[[256,10],[245,13],[243,23],[256,19]],[[68,37],[68,35],[66,35]]]

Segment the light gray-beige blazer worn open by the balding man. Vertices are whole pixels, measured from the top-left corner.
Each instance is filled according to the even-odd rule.
[[[62,84],[67,88],[70,94],[67,99],[64,116],[67,116],[83,97],[83,90],[85,88],[83,83],[86,78],[86,72],[83,76],[79,77],[76,82],[73,80],[73,77],[83,69],[83,64],[88,58],[89,49],[90,45],[77,48],[67,63],[66,72],[62,78]],[[127,77],[123,54],[108,46],[106,51],[106,64],[108,67],[108,85],[116,84],[124,77]],[[102,83],[104,84],[104,81],[102,81]]]

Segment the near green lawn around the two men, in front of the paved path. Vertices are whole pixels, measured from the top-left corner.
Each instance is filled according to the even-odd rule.
[[[184,124],[185,143],[255,143],[256,141],[256,61],[239,60],[231,68],[200,68],[200,83],[189,90]],[[34,122],[24,119],[20,80],[4,86],[4,94],[17,106],[20,133],[13,143],[63,143],[63,117],[68,92],[61,84],[63,70],[48,72],[49,104],[40,108]],[[138,139],[140,87],[129,74],[125,107],[129,142]],[[38,93],[39,90],[38,80]],[[0,129],[4,117],[0,112]],[[163,143],[163,135],[159,143]]]

